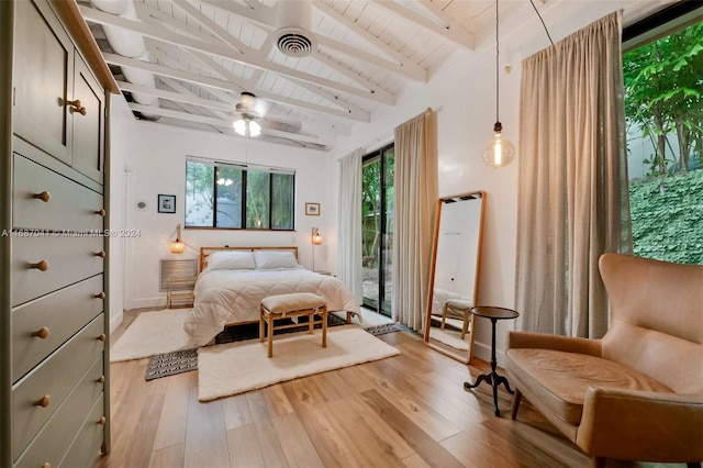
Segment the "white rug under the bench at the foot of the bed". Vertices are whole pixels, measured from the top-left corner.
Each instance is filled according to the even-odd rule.
[[[321,342],[320,331],[275,337],[271,358],[267,357],[266,342],[202,347],[198,349],[198,400],[215,400],[400,354],[356,325],[327,328],[327,347]]]

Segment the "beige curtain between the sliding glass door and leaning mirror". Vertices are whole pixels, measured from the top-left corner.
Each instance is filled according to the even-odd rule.
[[[393,320],[423,330],[437,204],[437,118],[427,111],[395,127]]]

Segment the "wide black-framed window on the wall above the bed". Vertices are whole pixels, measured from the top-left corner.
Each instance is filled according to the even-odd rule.
[[[235,163],[186,160],[186,226],[292,230],[295,172]]]

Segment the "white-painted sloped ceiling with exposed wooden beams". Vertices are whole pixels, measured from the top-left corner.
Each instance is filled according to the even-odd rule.
[[[495,21],[491,0],[78,3],[135,118],[235,135],[246,104],[258,138],[322,151]]]

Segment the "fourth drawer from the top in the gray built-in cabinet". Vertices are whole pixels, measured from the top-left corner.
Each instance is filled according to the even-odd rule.
[[[24,450],[96,359],[102,356],[103,331],[104,316],[100,314],[12,388],[14,454]],[[46,395],[48,399],[44,399]],[[43,399],[48,403],[45,406],[41,404]]]

